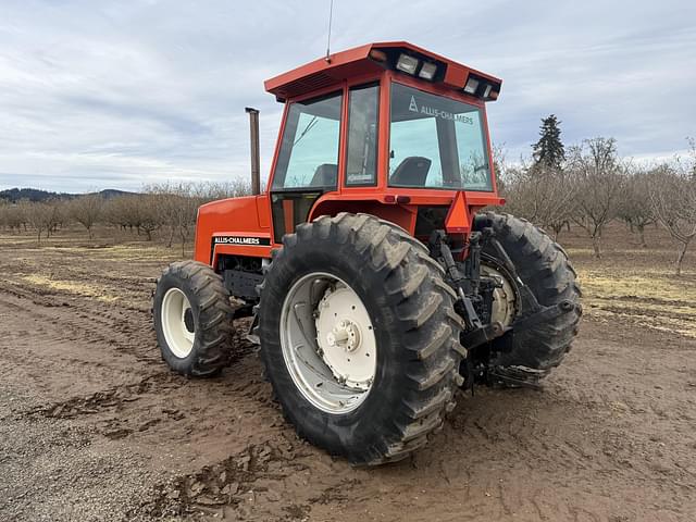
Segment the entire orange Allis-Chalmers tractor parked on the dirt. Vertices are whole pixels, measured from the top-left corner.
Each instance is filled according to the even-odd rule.
[[[475,383],[536,386],[582,313],[544,231],[499,207],[485,102],[501,82],[417,46],[371,44],[265,82],[285,111],[260,194],[203,204],[195,261],[158,281],[166,363],[213,375],[252,316],[300,436],[356,463],[422,447]]]

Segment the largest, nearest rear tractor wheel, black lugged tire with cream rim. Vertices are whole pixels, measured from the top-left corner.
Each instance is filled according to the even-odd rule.
[[[456,296],[403,234],[366,214],[301,224],[260,291],[261,357],[286,419],[358,464],[422,447],[462,382]]]

